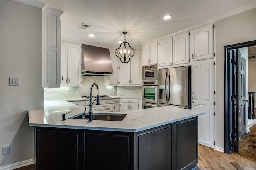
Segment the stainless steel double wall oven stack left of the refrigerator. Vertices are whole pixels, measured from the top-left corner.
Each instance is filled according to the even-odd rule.
[[[142,68],[142,108],[158,106],[158,65],[143,66]]]

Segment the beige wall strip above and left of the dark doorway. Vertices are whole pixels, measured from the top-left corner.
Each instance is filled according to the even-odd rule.
[[[256,40],[256,8],[216,21],[216,146],[224,149],[224,46]]]

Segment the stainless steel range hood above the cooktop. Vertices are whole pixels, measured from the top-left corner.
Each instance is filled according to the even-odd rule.
[[[82,75],[111,76],[113,67],[109,49],[82,44]]]

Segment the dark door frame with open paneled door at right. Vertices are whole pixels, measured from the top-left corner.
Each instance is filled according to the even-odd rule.
[[[239,49],[255,46],[248,41],[224,47],[225,71],[225,148],[226,153],[239,153],[240,139],[248,133],[248,55],[241,56]],[[247,48],[246,48],[247,49]],[[256,66],[255,66],[256,67]],[[256,69],[256,68],[255,68]],[[247,76],[248,77],[248,76]],[[247,129],[246,129],[247,128]]]

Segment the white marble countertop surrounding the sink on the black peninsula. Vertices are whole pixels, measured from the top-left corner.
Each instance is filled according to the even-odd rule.
[[[68,113],[70,111],[70,113]],[[58,127],[103,131],[139,132],[205,114],[202,111],[163,106],[126,112],[104,112],[127,114],[123,121],[102,121],[69,119],[84,112],[84,107],[66,100],[46,100],[44,109],[29,110],[29,125],[37,127]],[[62,121],[62,114],[66,120]],[[98,113],[98,112],[94,112]]]

